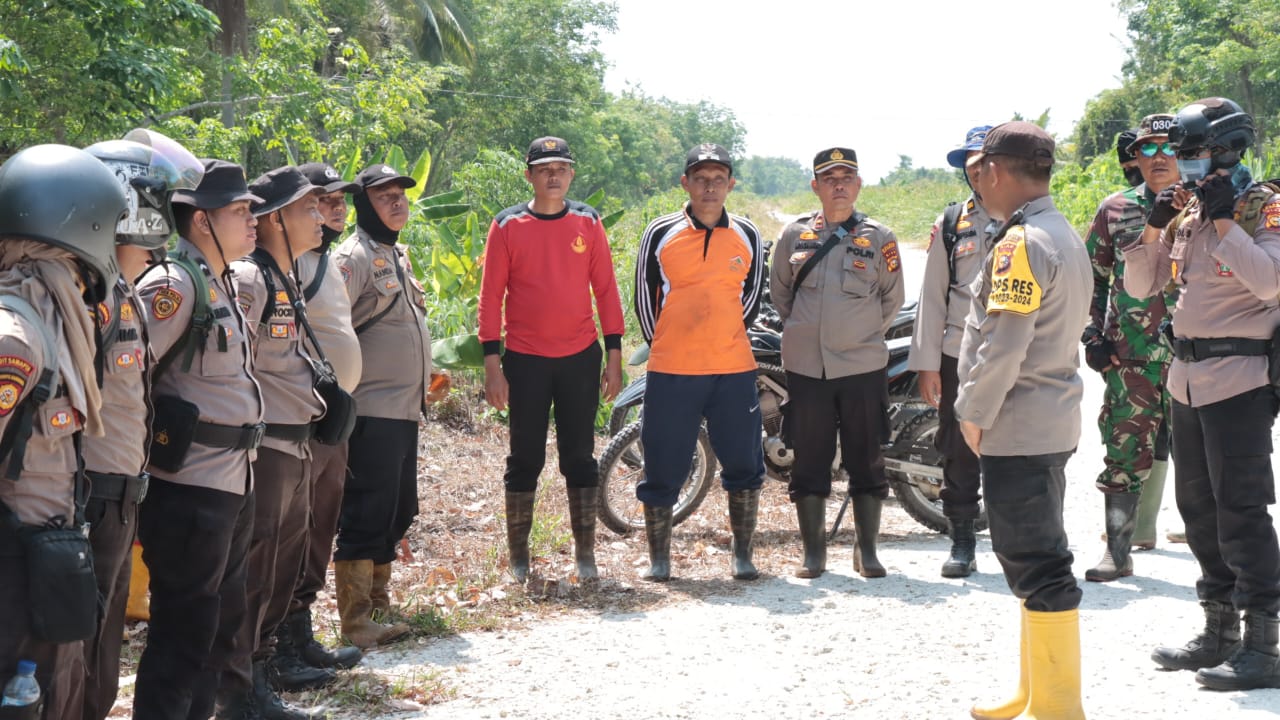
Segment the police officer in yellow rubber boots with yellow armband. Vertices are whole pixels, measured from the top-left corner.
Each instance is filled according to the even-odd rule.
[[[956,416],[982,466],[991,546],[1023,601],[1023,676],[975,719],[1083,720],[1080,589],[1062,527],[1066,461],[1080,437],[1076,333],[1089,313],[1089,255],[1048,195],[1053,138],[996,126],[969,177],[1005,228],[974,281],[960,345]]]

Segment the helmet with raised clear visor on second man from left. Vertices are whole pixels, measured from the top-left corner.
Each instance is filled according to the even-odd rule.
[[[140,129],[127,137],[147,142],[108,140],[84,150],[105,163],[124,188],[129,211],[115,228],[115,242],[157,250],[174,229],[169,195],[195,190],[205,168],[186,147],[157,132]]]

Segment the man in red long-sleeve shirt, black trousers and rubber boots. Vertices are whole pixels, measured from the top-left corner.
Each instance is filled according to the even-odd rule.
[[[600,215],[564,199],[573,182],[568,143],[540,137],[525,160],[534,200],[493,219],[479,310],[485,398],[498,410],[511,406],[511,454],[503,474],[511,573],[520,582],[529,575],[534,493],[547,461],[548,415],[554,405],[577,578],[593,580],[599,486],[595,414],[600,395],[613,400],[622,387],[622,302]],[[593,295],[607,351],[599,382]]]

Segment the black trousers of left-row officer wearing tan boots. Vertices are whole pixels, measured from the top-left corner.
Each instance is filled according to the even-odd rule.
[[[347,452],[333,557],[384,565],[417,515],[417,423],[358,418]]]

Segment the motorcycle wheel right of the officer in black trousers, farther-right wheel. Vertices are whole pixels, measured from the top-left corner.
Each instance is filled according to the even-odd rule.
[[[942,454],[933,447],[933,437],[938,434],[938,411],[928,407],[905,418],[902,427],[895,433],[893,447],[886,455],[909,459],[913,462],[942,466]],[[938,533],[947,533],[951,524],[942,514],[942,498],[938,480],[888,470],[888,484],[893,488],[902,510],[916,523]],[[974,530],[987,529],[987,509],[982,507],[974,521]]]

